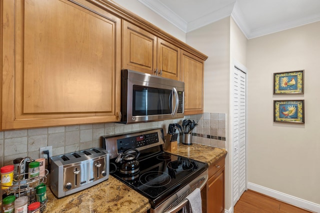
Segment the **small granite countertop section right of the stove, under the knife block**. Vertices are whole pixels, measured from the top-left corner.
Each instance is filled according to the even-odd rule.
[[[192,143],[191,145],[178,143],[176,151],[168,152],[206,162],[209,165],[227,153],[224,148],[217,148],[197,143]]]

